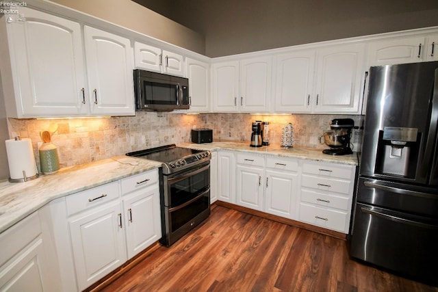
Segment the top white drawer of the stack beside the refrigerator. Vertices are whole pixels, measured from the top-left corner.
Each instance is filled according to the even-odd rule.
[[[338,165],[333,163],[303,163],[302,172],[318,176],[346,178],[352,180],[355,177],[355,166]]]

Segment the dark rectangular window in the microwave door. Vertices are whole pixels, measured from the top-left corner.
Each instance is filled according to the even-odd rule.
[[[146,105],[177,104],[177,85],[143,81],[143,90]]]

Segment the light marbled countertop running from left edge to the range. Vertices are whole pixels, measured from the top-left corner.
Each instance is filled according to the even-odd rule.
[[[120,156],[62,168],[25,183],[0,181],[0,233],[51,200],[160,166],[156,161]]]

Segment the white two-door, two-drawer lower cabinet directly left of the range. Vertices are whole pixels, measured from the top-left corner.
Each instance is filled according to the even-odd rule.
[[[66,209],[79,290],[162,236],[157,170],[68,196]]]

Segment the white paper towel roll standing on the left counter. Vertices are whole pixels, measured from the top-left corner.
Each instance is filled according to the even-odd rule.
[[[32,142],[29,138],[6,140],[6,153],[11,180],[27,181],[38,174]],[[25,172],[25,175],[23,174]]]

